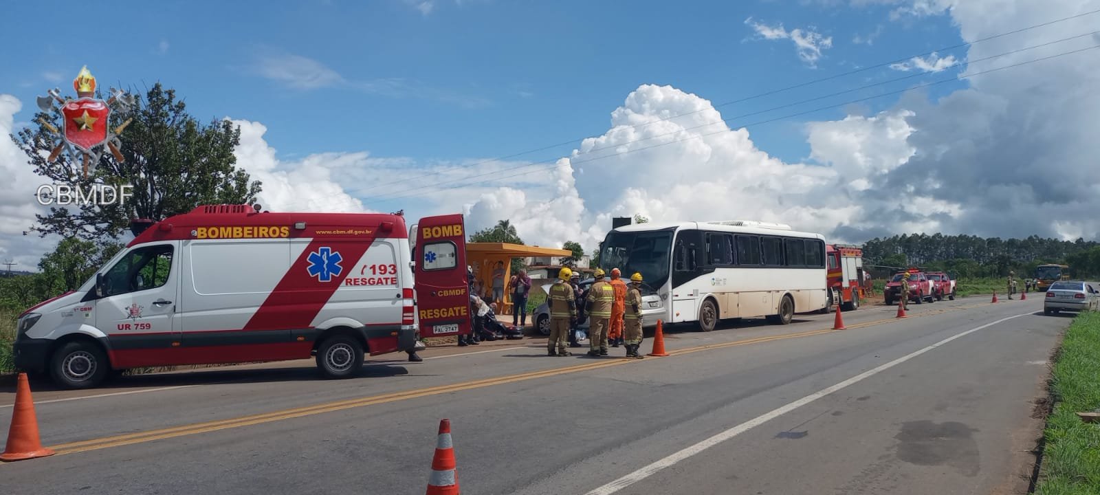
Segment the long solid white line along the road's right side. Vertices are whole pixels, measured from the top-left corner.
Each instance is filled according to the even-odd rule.
[[[778,409],[773,409],[773,410],[771,410],[769,413],[765,413],[763,415],[757,416],[756,418],[752,418],[752,419],[750,419],[748,421],[745,421],[745,422],[743,422],[740,425],[737,425],[737,426],[735,426],[735,427],[733,427],[733,428],[730,428],[728,430],[725,430],[725,431],[723,431],[723,432],[721,432],[718,435],[715,435],[714,437],[711,437],[711,438],[708,438],[706,440],[703,440],[703,441],[701,441],[701,442],[698,442],[698,443],[696,443],[694,446],[688,447],[688,448],[685,448],[685,449],[683,449],[683,450],[681,450],[681,451],[679,451],[676,453],[673,453],[672,455],[669,455],[669,457],[667,457],[664,459],[661,459],[661,460],[659,460],[659,461],[657,461],[657,462],[654,462],[652,464],[649,464],[649,465],[647,465],[647,466],[645,466],[645,468],[642,468],[642,469],[640,469],[638,471],[635,471],[635,472],[632,472],[630,474],[627,474],[626,476],[623,476],[623,477],[620,477],[618,480],[615,480],[615,481],[613,481],[613,482],[610,482],[610,483],[608,483],[606,485],[603,485],[603,486],[601,486],[601,487],[598,487],[596,490],[593,490],[593,491],[588,492],[585,495],[610,495],[610,494],[613,494],[615,492],[618,492],[618,491],[620,491],[620,490],[623,490],[623,488],[625,488],[627,486],[630,486],[630,485],[632,485],[632,484],[635,484],[637,482],[640,482],[640,481],[642,481],[642,480],[645,480],[645,479],[653,475],[658,471],[661,471],[661,470],[663,470],[666,468],[671,468],[672,465],[676,464],[680,461],[683,461],[683,460],[685,460],[685,459],[688,459],[688,458],[690,458],[692,455],[695,455],[695,454],[697,454],[700,452],[703,452],[706,449],[710,449],[710,448],[712,448],[714,446],[717,446],[718,443],[722,443],[722,442],[724,442],[726,440],[729,440],[729,439],[732,439],[732,438],[734,438],[734,437],[736,437],[736,436],[738,436],[740,433],[744,433],[744,432],[746,432],[746,431],[748,431],[748,430],[750,430],[752,428],[756,428],[756,427],[758,427],[760,425],[763,425],[765,422],[767,422],[767,421],[769,421],[771,419],[774,419],[774,418],[777,418],[779,416],[782,416],[782,415],[784,415],[787,413],[790,413],[790,411],[792,411],[794,409],[798,409],[798,408],[800,408],[802,406],[805,406],[806,404],[810,404],[810,403],[812,403],[814,400],[817,400],[817,399],[820,399],[822,397],[825,397],[826,395],[829,395],[829,394],[832,394],[834,392],[837,392],[837,391],[839,391],[842,388],[845,388],[845,387],[847,387],[849,385],[858,383],[858,382],[860,382],[860,381],[862,381],[865,378],[868,378],[870,376],[875,376],[875,375],[877,375],[879,373],[882,373],[883,371],[887,371],[887,370],[889,370],[891,367],[894,367],[894,366],[897,366],[897,365],[899,365],[901,363],[904,363],[904,362],[906,362],[906,361],[909,361],[909,360],[911,360],[913,358],[916,358],[916,356],[919,356],[921,354],[924,354],[925,352],[928,352],[928,351],[931,351],[933,349],[936,349],[936,348],[938,348],[938,346],[941,346],[941,345],[943,345],[943,344],[945,344],[947,342],[950,342],[950,341],[953,341],[955,339],[959,339],[961,337],[969,336],[970,333],[974,333],[974,332],[976,332],[978,330],[982,330],[982,329],[992,327],[994,324],[1003,323],[1003,322],[1005,322],[1008,320],[1011,320],[1011,319],[1014,319],[1014,318],[1024,317],[1024,316],[1028,316],[1028,315],[1034,315],[1034,311],[1030,311],[1030,312],[1025,312],[1023,315],[1016,315],[1016,316],[1012,316],[1012,317],[1008,317],[1008,318],[1001,318],[1000,320],[993,321],[991,323],[986,323],[986,324],[982,324],[981,327],[972,328],[972,329],[967,330],[967,331],[965,331],[963,333],[958,333],[956,336],[953,336],[953,337],[949,337],[947,339],[941,340],[939,342],[936,342],[936,343],[934,343],[932,345],[928,345],[928,346],[926,346],[924,349],[921,349],[920,351],[916,351],[916,352],[903,355],[903,356],[898,358],[897,360],[893,360],[893,361],[891,361],[889,363],[886,363],[883,365],[880,365],[878,367],[875,367],[872,370],[869,370],[869,371],[860,373],[860,374],[858,374],[856,376],[853,376],[853,377],[850,377],[848,380],[845,380],[844,382],[840,382],[840,383],[838,383],[836,385],[833,385],[833,386],[831,386],[828,388],[823,388],[823,389],[821,389],[818,392],[815,392],[815,393],[810,394],[810,395],[807,395],[805,397],[802,397],[802,398],[800,398],[800,399],[798,399],[798,400],[795,400],[793,403],[790,403],[790,404],[788,404],[785,406],[782,406],[782,407],[780,407]]]

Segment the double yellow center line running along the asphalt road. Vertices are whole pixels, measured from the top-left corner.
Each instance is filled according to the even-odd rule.
[[[981,306],[989,306],[991,302],[980,304],[980,305],[972,305],[972,306],[960,306],[960,307],[952,308],[952,309],[923,311],[923,312],[917,314],[917,315],[912,315],[910,318],[916,318],[916,317],[930,316],[930,315],[939,315],[939,314],[948,312],[948,311],[958,311],[958,310],[963,310],[963,309],[977,308],[977,307],[981,307]],[[901,320],[898,319],[898,318],[888,318],[888,319],[880,319],[880,320],[867,321],[867,322],[862,322],[862,323],[856,323],[856,324],[853,324],[853,326],[848,326],[847,330],[853,330],[853,329],[858,329],[858,328],[866,328],[866,327],[871,327],[871,326],[876,326],[876,324],[883,324],[883,323],[897,322],[897,321],[901,321]],[[707,351],[707,350],[713,350],[713,349],[725,349],[725,348],[732,348],[732,346],[749,345],[749,344],[756,344],[756,343],[762,343],[762,342],[771,342],[771,341],[777,341],[777,340],[798,339],[798,338],[802,338],[802,337],[818,336],[818,334],[833,333],[833,332],[838,332],[838,331],[843,331],[843,330],[834,330],[834,329],[810,330],[810,331],[804,331],[804,332],[799,332],[799,333],[787,333],[787,334],[781,334],[781,336],[760,337],[760,338],[756,338],[756,339],[737,340],[737,341],[733,341],[733,342],[725,342],[725,343],[717,343],[717,344],[705,344],[705,345],[697,345],[697,346],[694,346],[694,348],[686,348],[686,349],[680,349],[680,350],[671,351],[671,352],[669,352],[669,355],[684,355],[684,354],[690,354],[690,353],[693,353],[693,352]],[[466,383],[461,383],[461,384],[439,385],[439,386],[435,386],[435,387],[418,388],[418,389],[404,391],[404,392],[395,392],[395,393],[375,395],[375,396],[370,396],[370,397],[360,397],[360,398],[353,398],[353,399],[337,400],[337,402],[330,402],[330,403],[324,403],[324,404],[318,404],[318,405],[314,405],[314,406],[296,407],[296,408],[290,408],[290,409],[277,410],[277,411],[274,411],[274,413],[265,413],[265,414],[257,414],[257,415],[250,415],[250,416],[241,416],[241,417],[237,417],[237,418],[219,419],[219,420],[213,420],[213,421],[206,421],[206,422],[198,422],[198,424],[191,424],[191,425],[184,425],[184,426],[172,427],[172,428],[163,428],[163,429],[157,429],[157,430],[139,431],[139,432],[134,432],[134,433],[117,435],[117,436],[103,437],[103,438],[98,438],[98,439],[92,439],[92,440],[81,440],[81,441],[76,441],[76,442],[68,442],[68,443],[62,443],[62,444],[57,444],[57,446],[52,446],[51,449],[53,449],[54,451],[56,451],[57,454],[59,454],[59,455],[61,454],[76,453],[76,452],[87,452],[87,451],[90,451],[90,450],[108,449],[108,448],[112,448],[112,447],[129,446],[129,444],[134,444],[134,443],[144,443],[144,442],[151,442],[151,441],[156,441],[156,440],[165,440],[165,439],[169,439],[169,438],[184,437],[184,436],[189,436],[189,435],[197,435],[197,433],[205,433],[205,432],[210,432],[210,431],[224,430],[224,429],[230,429],[230,428],[241,428],[241,427],[248,427],[248,426],[254,426],[254,425],[262,425],[262,424],[266,424],[266,422],[280,421],[280,420],[292,419],[292,418],[300,418],[300,417],[304,417],[304,416],[312,416],[312,415],[318,415],[318,414],[322,414],[322,413],[332,413],[332,411],[338,411],[338,410],[342,410],[342,409],[350,409],[350,408],[355,408],[355,407],[364,407],[364,406],[372,406],[372,405],[377,405],[377,404],[386,404],[386,403],[393,403],[393,402],[397,402],[397,400],[408,400],[408,399],[414,399],[414,398],[428,397],[428,396],[432,396],[432,395],[449,394],[449,393],[453,393],[453,392],[469,391],[469,389],[483,388],[483,387],[488,387],[488,386],[494,386],[494,385],[503,385],[503,384],[515,383],[515,382],[524,382],[524,381],[528,381],[528,380],[536,380],[536,378],[543,378],[543,377],[549,377],[549,376],[558,376],[558,375],[564,375],[564,374],[570,374],[570,373],[578,373],[578,372],[583,372],[583,371],[588,371],[588,370],[598,370],[598,369],[602,369],[602,367],[617,366],[617,365],[622,365],[622,364],[626,364],[626,363],[631,363],[631,362],[635,362],[635,360],[632,360],[632,359],[625,359],[625,358],[623,358],[623,359],[616,359],[616,360],[607,360],[607,361],[601,361],[601,362],[597,362],[597,363],[581,364],[581,365],[576,365],[576,366],[566,366],[566,367],[559,367],[559,369],[552,369],[552,370],[543,370],[543,371],[537,371],[537,372],[530,372],[530,373],[522,373],[522,374],[507,376],[507,377],[484,378],[484,380],[479,380],[479,381],[474,381],[474,382],[466,382]]]

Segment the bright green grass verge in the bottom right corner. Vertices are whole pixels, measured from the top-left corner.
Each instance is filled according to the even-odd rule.
[[[1100,314],[1084,312],[1066,330],[1050,394],[1055,406],[1044,430],[1035,493],[1100,494],[1100,424],[1077,417],[1100,407]]]

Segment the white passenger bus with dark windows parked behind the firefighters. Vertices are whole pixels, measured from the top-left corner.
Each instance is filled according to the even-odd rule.
[[[664,322],[714,330],[727,318],[767,317],[788,324],[795,312],[825,309],[825,238],[757,221],[638,223],[607,233],[600,267],[646,279]],[[653,323],[653,322],[647,322]]]

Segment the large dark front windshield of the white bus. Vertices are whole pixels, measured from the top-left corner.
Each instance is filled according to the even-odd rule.
[[[649,232],[610,231],[600,252],[600,267],[610,273],[619,268],[623,278],[635,272],[646,284],[660,287],[669,278],[669,254],[672,252],[672,229]]]

